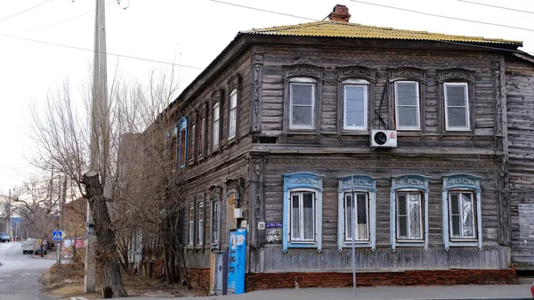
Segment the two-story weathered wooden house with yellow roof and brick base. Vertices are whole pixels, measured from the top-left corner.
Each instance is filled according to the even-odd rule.
[[[247,290],[534,270],[522,42],[329,20],[239,32],[172,106],[191,284],[247,229]]]

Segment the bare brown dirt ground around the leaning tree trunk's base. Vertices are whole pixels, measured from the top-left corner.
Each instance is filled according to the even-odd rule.
[[[100,293],[84,293],[84,264],[81,262],[71,264],[54,264],[48,272],[40,278],[43,292],[56,299],[70,299],[73,296],[83,296],[87,299],[101,299]],[[123,273],[128,296],[204,296],[195,290],[182,287],[182,285],[167,285],[160,280],[150,280],[141,276],[129,276]],[[99,290],[97,279],[97,291]]]

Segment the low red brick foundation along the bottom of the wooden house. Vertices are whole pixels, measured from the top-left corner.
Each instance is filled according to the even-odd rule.
[[[188,269],[190,284],[202,292],[209,292],[209,269]],[[414,270],[405,272],[357,273],[358,287],[374,286],[447,286],[457,284],[517,284],[511,270]],[[246,291],[271,288],[346,288],[352,287],[352,272],[288,272],[248,273]]]

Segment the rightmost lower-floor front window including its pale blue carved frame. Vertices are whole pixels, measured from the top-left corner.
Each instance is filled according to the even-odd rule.
[[[443,177],[443,242],[449,247],[482,247],[480,178],[469,174]]]

